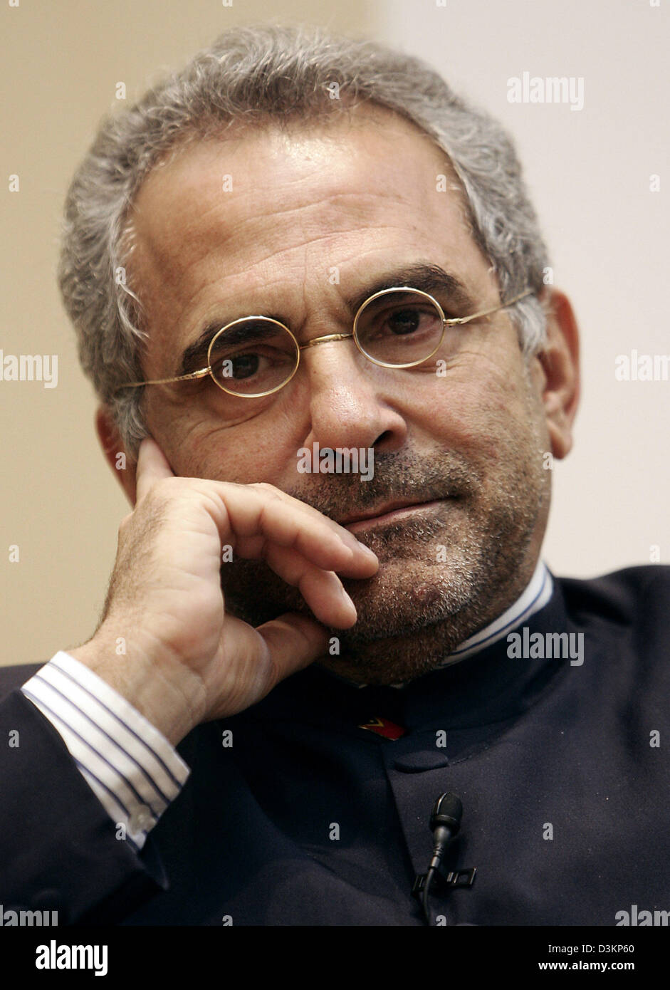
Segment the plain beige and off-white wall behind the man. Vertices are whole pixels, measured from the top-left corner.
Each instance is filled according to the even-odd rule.
[[[14,0],[16,3],[17,0]],[[667,332],[668,21],[660,0],[18,0],[0,6],[5,94],[0,208],[7,353],[58,355],[58,384],[0,381],[0,662],[46,660],[88,639],[128,511],[93,430],[55,284],[58,222],[99,118],[137,98],[226,26],[308,21],[423,54],[517,137],[585,334],[578,443],[554,471],[545,557],[590,575],[670,560],[670,382],[617,382],[618,354],[670,353]],[[507,79],[584,78],[584,109],[513,105]],[[661,191],[649,191],[659,173]],[[9,191],[18,174],[20,190]],[[10,545],[20,559],[10,562]]]

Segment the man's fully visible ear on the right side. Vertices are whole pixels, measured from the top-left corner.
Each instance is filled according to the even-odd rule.
[[[572,425],[579,404],[579,329],[564,292],[549,289],[540,301],[546,312],[546,343],[534,359],[541,371],[540,401],[551,452],[561,459],[572,448]]]

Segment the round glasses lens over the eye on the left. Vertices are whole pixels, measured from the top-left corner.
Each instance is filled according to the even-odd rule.
[[[298,358],[298,345],[286,327],[251,317],[219,331],[210,347],[210,374],[225,392],[251,399],[285,385]]]

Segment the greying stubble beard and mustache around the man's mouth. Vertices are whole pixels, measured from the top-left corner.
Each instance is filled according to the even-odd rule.
[[[431,509],[357,532],[374,550],[378,573],[342,579],[358,620],[329,629],[321,658],[336,674],[364,684],[413,680],[443,662],[522,593],[535,560],[528,554],[548,509],[548,472],[532,420],[527,436],[500,438],[496,468],[484,472],[453,450],[375,454],[375,475],[329,475],[321,486],[288,492],[332,519],[394,498],[438,499]],[[312,616],[297,589],[262,561],[222,566],[226,607],[252,626],[284,612]],[[336,652],[335,650],[338,650]]]

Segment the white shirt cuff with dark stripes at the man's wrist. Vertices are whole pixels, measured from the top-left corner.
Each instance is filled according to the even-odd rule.
[[[21,688],[60,734],[117,838],[141,849],[190,769],[133,705],[59,650]]]

